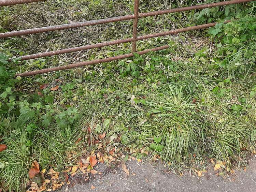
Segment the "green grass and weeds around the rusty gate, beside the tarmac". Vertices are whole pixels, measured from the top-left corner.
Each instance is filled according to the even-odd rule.
[[[51,3],[1,8],[1,31],[113,17],[131,14],[133,9],[130,1]],[[140,11],[191,3],[141,2]],[[54,167],[60,171],[75,165],[98,148],[97,144],[88,144],[102,133],[106,133],[105,146],[114,147],[116,153],[142,158],[144,151],[151,151],[150,157],[159,154],[173,171],[202,168],[200,162],[209,158],[226,161],[229,167],[246,164],[246,156],[255,150],[251,135],[256,130],[256,100],[250,95],[256,84],[252,56],[255,35],[247,31],[254,22],[250,21],[255,17],[254,3],[248,7],[230,6],[231,15],[241,10],[245,14],[245,27],[243,22],[240,27],[249,36],[246,41],[229,42],[224,32],[219,32],[223,38],[217,38],[209,30],[191,31],[138,42],[138,50],[170,45],[156,53],[17,80],[10,97],[1,98],[2,106],[10,108],[4,113],[0,105],[0,142],[8,146],[0,153],[0,186],[6,191],[24,191],[35,160],[41,169]],[[143,18],[139,20],[139,35],[210,23],[211,17],[214,21],[225,18],[225,9],[212,8],[209,15],[200,18],[200,10]],[[14,37],[0,40],[0,44],[3,53],[11,57],[128,38],[131,30],[132,22],[125,21]],[[13,69],[23,72],[110,57],[129,53],[130,48],[131,43],[127,43],[19,61]],[[49,87],[39,89],[43,84]],[[51,91],[56,85],[60,89]],[[1,93],[6,86],[0,86]],[[131,104],[133,95],[136,106]],[[35,127],[30,130],[32,123]],[[115,135],[121,142],[109,142]],[[104,153],[108,154],[106,150]]]

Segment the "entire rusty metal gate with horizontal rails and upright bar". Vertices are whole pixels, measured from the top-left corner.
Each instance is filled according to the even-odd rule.
[[[47,0],[0,0],[0,6],[16,5],[16,4],[23,4],[23,3],[32,3],[32,2],[39,2],[39,1],[47,1]],[[48,26],[48,27],[41,27],[41,28],[34,28],[34,29],[26,29],[26,30],[19,30],[19,31],[10,31],[10,32],[5,32],[5,33],[0,33],[0,38],[9,38],[9,37],[13,37],[13,36],[20,36],[20,35],[27,35],[27,34],[34,34],[34,33],[56,31],[56,30],[63,30],[63,29],[71,29],[71,28],[78,28],[78,27],[85,27],[85,26],[93,26],[93,25],[98,25],[98,24],[106,24],[106,23],[112,23],[112,22],[116,22],[116,21],[123,21],[123,20],[133,19],[132,38],[115,40],[115,41],[108,41],[108,42],[97,43],[97,44],[93,44],[93,45],[85,45],[85,46],[81,46],[81,47],[61,49],[61,50],[56,50],[56,51],[49,51],[49,52],[38,53],[38,54],[33,54],[33,55],[25,55],[25,56],[18,57],[18,58],[20,60],[28,60],[28,59],[35,59],[35,58],[41,58],[41,57],[47,57],[47,56],[53,56],[53,55],[60,55],[60,54],[65,54],[65,53],[72,53],[72,52],[75,52],[75,51],[87,50],[87,49],[92,49],[92,48],[100,48],[100,47],[109,46],[109,45],[117,45],[117,44],[121,44],[121,43],[132,42],[132,50],[131,50],[130,54],[120,55],[120,56],[115,56],[115,57],[110,57],[110,58],[104,58],[104,59],[97,59],[97,60],[92,60],[92,61],[85,61],[85,62],[81,62],[81,63],[67,64],[67,65],[62,65],[62,66],[59,66],[59,67],[36,70],[36,71],[29,71],[29,72],[19,73],[19,74],[15,75],[15,76],[25,77],[25,76],[49,73],[49,72],[53,72],[53,71],[72,69],[72,68],[76,68],[76,67],[82,67],[82,66],[85,66],[85,65],[91,65],[91,64],[97,64],[97,63],[102,63],[102,62],[114,61],[114,60],[118,60],[118,59],[129,58],[129,57],[132,57],[133,53],[136,52],[137,41],[144,40],[144,39],[155,38],[155,37],[159,37],[159,36],[175,34],[175,33],[191,31],[191,30],[213,27],[213,26],[216,25],[216,23],[210,23],[210,24],[204,24],[204,25],[198,25],[198,26],[193,26],[193,27],[187,27],[187,28],[181,28],[181,29],[176,29],[176,30],[170,30],[170,31],[164,31],[164,32],[159,32],[159,33],[137,36],[137,28],[138,28],[138,19],[139,18],[148,17],[148,16],[155,16],[155,15],[162,15],[162,14],[168,14],[168,13],[177,13],[177,12],[183,12],[183,11],[190,11],[190,10],[196,10],[196,9],[212,8],[212,7],[216,7],[216,6],[225,6],[225,5],[231,5],[231,4],[237,4],[237,3],[246,3],[246,2],[251,2],[251,1],[255,1],[255,0],[222,1],[222,2],[217,2],[217,3],[187,6],[187,7],[183,7],[183,8],[175,8],[175,9],[169,9],[169,10],[139,13],[139,0],[134,0],[134,13],[133,13],[133,15],[125,15],[125,16],[119,16],[119,17],[84,21],[84,22],[65,24],[65,25]],[[225,21],[225,23],[228,23],[228,22],[229,22],[229,20]],[[158,50],[166,49],[168,47],[169,47],[168,45],[165,45],[165,46],[161,46],[161,47],[156,47],[156,48],[152,48],[152,49],[139,51],[137,53],[139,55],[142,55],[142,54],[146,54],[150,51],[158,51]],[[15,57],[15,58],[17,58],[17,57]],[[12,59],[14,59],[14,58],[10,58],[9,61],[11,61]]]

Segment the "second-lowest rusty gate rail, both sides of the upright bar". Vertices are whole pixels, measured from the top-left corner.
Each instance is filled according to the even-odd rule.
[[[229,21],[230,20],[225,21],[225,23],[228,23]],[[175,29],[175,30],[171,30],[171,31],[163,31],[160,33],[143,35],[143,36],[137,37],[137,41],[143,40],[143,39],[150,39],[150,38],[154,38],[154,37],[158,37],[158,36],[164,36],[164,35],[170,35],[170,34],[175,34],[175,33],[181,33],[181,32],[186,32],[186,31],[192,31],[192,30],[197,30],[197,29],[213,27],[215,25],[216,25],[216,23],[210,23],[210,24],[198,25],[198,26],[193,26],[193,27],[186,27],[186,28],[182,28],[182,29]],[[28,59],[35,59],[35,58],[41,58],[41,57],[47,57],[47,56],[53,56],[53,55],[60,55],[60,54],[71,53],[71,52],[75,52],[75,51],[87,50],[87,49],[92,49],[92,48],[100,48],[100,47],[104,47],[104,46],[117,45],[117,44],[121,44],[121,43],[128,43],[128,42],[132,42],[132,41],[133,41],[133,38],[108,41],[108,42],[103,42],[103,43],[96,43],[93,45],[85,45],[85,46],[73,47],[73,48],[69,48],[69,49],[49,51],[49,52],[38,53],[38,54],[33,54],[33,55],[25,55],[22,57],[13,57],[13,58],[9,59],[9,61],[11,61],[14,58],[20,58],[20,60],[28,60]]]

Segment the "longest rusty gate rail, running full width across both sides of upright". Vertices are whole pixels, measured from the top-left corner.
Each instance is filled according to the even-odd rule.
[[[211,7],[215,7],[215,6],[230,5],[230,4],[236,4],[236,3],[245,3],[245,2],[250,2],[250,1],[254,1],[254,0],[232,0],[232,1],[224,1],[224,2],[218,2],[218,3],[203,4],[203,5],[194,5],[194,6],[162,10],[162,11],[153,11],[153,12],[148,12],[148,13],[139,13],[139,18],[155,16],[155,15],[162,15],[162,14],[167,14],[167,13],[175,13],[175,12],[181,12],[181,11],[189,11],[189,10],[195,10],[195,9],[211,8]],[[85,27],[85,26],[92,26],[92,25],[98,25],[98,24],[106,24],[106,23],[111,23],[111,22],[115,22],[115,21],[123,21],[123,20],[129,20],[129,19],[134,19],[134,15],[125,15],[125,16],[120,16],[120,17],[112,17],[112,18],[98,19],[98,20],[92,20],[92,21],[84,21],[84,22],[65,24],[65,25],[56,25],[56,26],[41,27],[41,28],[34,28],[34,29],[25,29],[25,30],[20,30],[20,31],[11,31],[11,32],[6,32],[6,33],[0,33],[0,38],[8,38],[8,37],[12,37],[12,36],[41,33],[41,32],[48,32],[48,31],[56,31],[56,30],[63,30],[63,29],[70,29],[70,28],[77,28],[77,27]]]

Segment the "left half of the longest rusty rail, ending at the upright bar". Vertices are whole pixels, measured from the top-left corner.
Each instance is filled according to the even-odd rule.
[[[111,22],[123,21],[123,20],[129,20],[129,19],[133,19],[133,15],[111,17],[111,18],[84,21],[84,22],[71,23],[71,24],[65,24],[65,25],[40,27],[40,28],[34,28],[34,29],[25,29],[25,30],[20,30],[20,31],[11,31],[11,32],[6,32],[6,33],[0,33],[0,38],[8,38],[8,37],[13,37],[13,36],[41,33],[41,32],[47,32],[47,31],[57,31],[57,30],[62,30],[62,29],[72,29],[72,28],[77,28],[77,27],[92,26],[92,25],[105,24],[105,23],[111,23]]]

